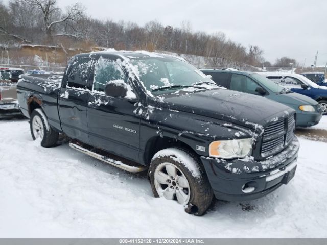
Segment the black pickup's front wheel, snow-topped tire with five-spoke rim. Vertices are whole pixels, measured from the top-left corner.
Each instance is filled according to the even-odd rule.
[[[187,213],[201,216],[212,203],[213,191],[203,166],[188,151],[159,151],[151,160],[148,176],[154,197],[175,200]]]

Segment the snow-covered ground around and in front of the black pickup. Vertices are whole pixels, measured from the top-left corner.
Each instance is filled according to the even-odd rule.
[[[327,143],[300,138],[294,179],[202,217],[153,198],[145,174],[41,148],[27,120],[0,121],[0,237],[327,237]]]

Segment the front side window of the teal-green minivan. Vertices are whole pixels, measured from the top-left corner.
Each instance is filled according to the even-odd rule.
[[[244,93],[252,93],[259,94],[255,92],[255,89],[260,87],[258,83],[254,82],[252,79],[240,75],[240,74],[232,74],[230,80],[230,89],[236,90]]]

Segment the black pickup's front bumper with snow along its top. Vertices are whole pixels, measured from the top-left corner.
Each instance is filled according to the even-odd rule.
[[[294,176],[299,142],[296,137],[282,152],[264,161],[252,157],[222,160],[201,157],[215,197],[226,201],[252,200],[274,191]]]

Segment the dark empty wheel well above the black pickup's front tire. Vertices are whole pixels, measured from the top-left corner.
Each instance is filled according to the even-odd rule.
[[[194,156],[197,156],[197,153],[189,146],[188,144],[169,137],[153,137],[150,139],[145,148],[145,163],[150,165],[151,159],[158,151],[164,150],[166,148],[175,147],[181,148],[186,151],[189,151]]]

